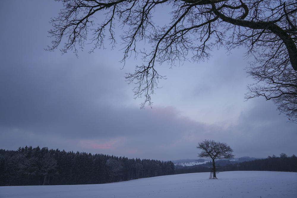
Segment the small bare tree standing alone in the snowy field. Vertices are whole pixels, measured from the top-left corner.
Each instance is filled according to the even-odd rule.
[[[214,169],[214,178],[216,176],[215,159],[232,159],[233,150],[226,143],[215,142],[214,140],[204,140],[198,143],[197,148],[202,149],[198,157],[207,157],[212,159],[212,166]]]

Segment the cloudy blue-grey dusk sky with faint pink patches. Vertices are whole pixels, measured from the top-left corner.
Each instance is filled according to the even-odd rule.
[[[133,99],[124,76],[141,59],[130,58],[121,69],[121,46],[88,54],[86,45],[78,58],[44,50],[51,44],[49,20],[61,6],[0,1],[0,148],[176,160],[198,159],[198,142],[210,139],[230,145],[236,157],[297,154],[297,124],[264,98],[244,102],[253,83],[244,71],[245,49],[159,66],[167,80],[159,82],[153,108],[140,110],[143,99]]]

